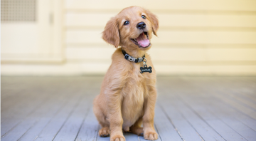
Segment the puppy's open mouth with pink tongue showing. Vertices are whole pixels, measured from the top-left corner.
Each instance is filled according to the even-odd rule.
[[[142,32],[137,38],[131,38],[132,42],[140,48],[150,46],[149,35],[147,32]]]

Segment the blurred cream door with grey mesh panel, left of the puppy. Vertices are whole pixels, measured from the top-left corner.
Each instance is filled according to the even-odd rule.
[[[1,0],[1,63],[61,61],[60,0]],[[57,6],[58,5],[58,6]],[[57,11],[57,12],[56,12]],[[56,16],[56,17],[54,17]]]

